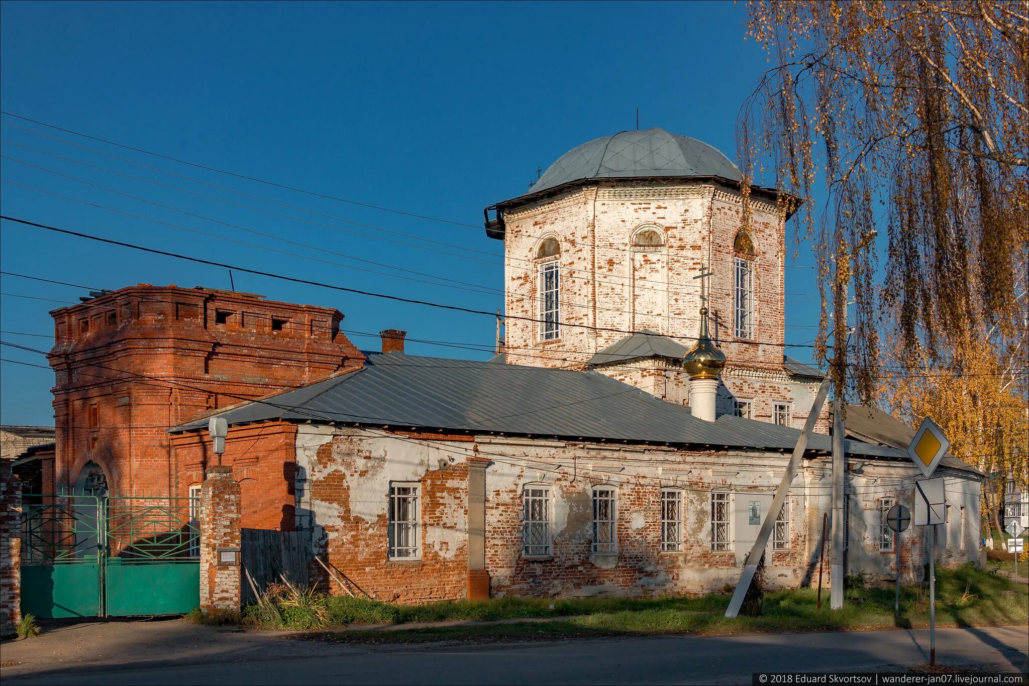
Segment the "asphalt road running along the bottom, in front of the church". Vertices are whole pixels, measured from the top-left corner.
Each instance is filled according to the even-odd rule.
[[[1027,643],[1026,626],[941,629],[937,660],[1025,673]],[[215,651],[162,660],[112,657],[5,667],[3,683],[749,684],[754,672],[904,670],[928,661],[928,631],[390,646],[260,637],[256,643],[248,638],[246,650],[220,656]]]

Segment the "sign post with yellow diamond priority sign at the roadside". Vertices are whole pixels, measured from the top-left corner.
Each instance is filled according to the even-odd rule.
[[[947,498],[943,478],[930,478],[944,459],[951,441],[944,430],[928,417],[922,420],[915,438],[908,446],[908,457],[924,479],[915,481],[915,526],[929,529],[929,664],[936,663],[936,525],[947,516]],[[899,592],[899,591],[898,591]]]

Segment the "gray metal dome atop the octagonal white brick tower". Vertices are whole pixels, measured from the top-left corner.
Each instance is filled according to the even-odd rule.
[[[717,176],[740,180],[740,170],[707,143],[664,129],[623,131],[561,155],[529,188],[535,193],[580,179]]]

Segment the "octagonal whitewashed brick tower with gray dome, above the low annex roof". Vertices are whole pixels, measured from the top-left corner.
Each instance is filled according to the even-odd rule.
[[[742,228],[740,179],[706,143],[624,131],[488,208],[487,233],[504,242],[507,361],[594,369],[688,404],[682,356],[706,304],[729,360],[718,413],[803,426],[821,373],[784,355],[789,216],[755,186]]]

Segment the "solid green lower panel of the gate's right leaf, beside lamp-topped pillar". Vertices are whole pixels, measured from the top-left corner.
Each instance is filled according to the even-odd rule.
[[[200,564],[120,564],[107,561],[107,614],[114,617],[185,614],[200,607]]]

